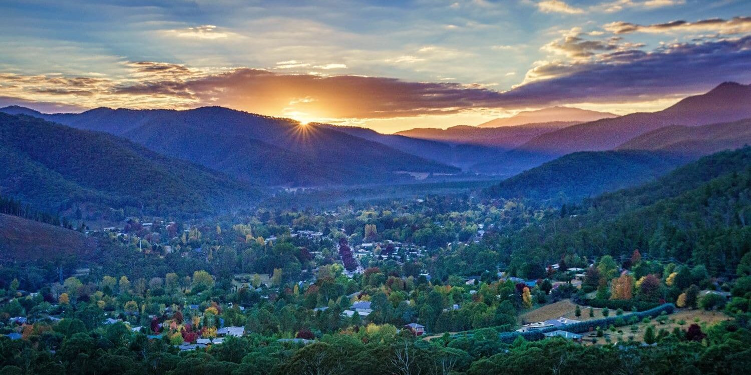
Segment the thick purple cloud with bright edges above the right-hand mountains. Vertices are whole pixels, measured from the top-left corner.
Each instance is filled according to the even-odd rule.
[[[575,62],[538,62],[526,83],[507,92],[540,103],[617,102],[702,92],[724,81],[751,80],[751,37],[673,43],[653,51],[617,50]]]

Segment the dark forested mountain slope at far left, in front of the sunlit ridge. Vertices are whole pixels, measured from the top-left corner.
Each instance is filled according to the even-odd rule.
[[[207,214],[251,205],[264,195],[127,139],[26,115],[0,113],[0,165],[0,193],[45,211],[82,208],[89,220]]]

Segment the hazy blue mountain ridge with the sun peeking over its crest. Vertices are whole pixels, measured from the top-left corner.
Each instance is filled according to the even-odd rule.
[[[44,114],[6,107],[71,127],[123,136],[170,157],[264,185],[316,186],[406,181],[398,172],[459,169],[333,130],[223,107]]]

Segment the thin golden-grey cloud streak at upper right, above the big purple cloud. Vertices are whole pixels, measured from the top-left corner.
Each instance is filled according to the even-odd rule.
[[[614,34],[629,34],[646,32],[662,34],[670,32],[716,32],[718,34],[745,34],[751,32],[751,17],[733,17],[730,20],[710,18],[694,23],[677,20],[669,23],[655,23],[652,25],[638,25],[635,23],[614,22],[604,26]]]

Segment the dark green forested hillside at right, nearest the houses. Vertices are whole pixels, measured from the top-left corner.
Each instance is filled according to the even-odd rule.
[[[734,274],[751,249],[751,148],[703,157],[641,187],[564,205],[502,246],[523,259],[566,254],[627,256],[701,264]]]

